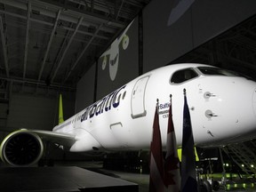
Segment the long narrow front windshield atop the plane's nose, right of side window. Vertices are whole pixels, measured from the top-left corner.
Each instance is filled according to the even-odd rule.
[[[239,76],[233,71],[225,70],[222,68],[211,68],[211,67],[198,67],[198,69],[208,76]]]

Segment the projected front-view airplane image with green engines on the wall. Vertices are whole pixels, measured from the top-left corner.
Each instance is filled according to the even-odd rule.
[[[133,22],[133,21],[132,21]],[[129,45],[129,36],[126,35],[126,32],[131,27],[132,22],[127,28],[125,28],[123,34],[116,38],[116,40],[110,45],[109,49],[104,52],[100,59],[102,60],[102,70],[105,70],[109,66],[109,76],[112,81],[115,80],[118,65],[119,65],[119,45],[122,49],[126,50]]]

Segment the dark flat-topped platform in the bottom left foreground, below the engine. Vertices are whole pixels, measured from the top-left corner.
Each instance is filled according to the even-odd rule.
[[[138,184],[77,166],[0,167],[1,192],[138,192]]]

